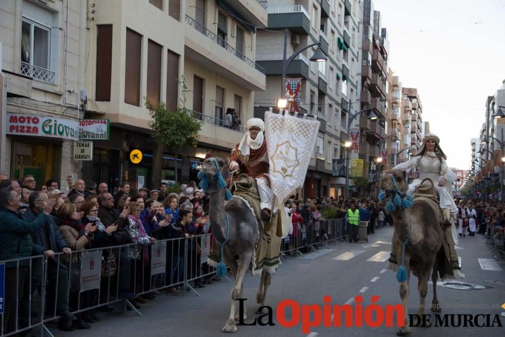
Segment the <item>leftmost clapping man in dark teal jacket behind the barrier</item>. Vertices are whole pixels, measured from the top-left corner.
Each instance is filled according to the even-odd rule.
[[[25,221],[16,213],[19,208],[19,194],[12,187],[0,189],[0,261],[25,258],[32,255],[33,243],[30,235],[37,232],[53,210],[56,200],[48,202],[37,217]],[[16,301],[23,298],[24,283],[28,273],[29,260],[6,263],[4,332],[13,331],[18,315]],[[18,290],[14,291],[15,289]]]

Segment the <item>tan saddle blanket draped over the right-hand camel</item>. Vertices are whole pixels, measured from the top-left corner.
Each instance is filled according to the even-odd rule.
[[[428,203],[433,214],[436,214],[438,223],[442,227],[442,232],[444,240],[442,243],[442,248],[444,252],[444,263],[439,265],[438,273],[440,278],[456,278],[457,275],[461,274],[455,272],[460,270],[460,264],[458,261],[458,255],[456,254],[455,243],[452,239],[452,227],[446,227],[443,225],[442,212],[440,211],[438,195],[432,185],[419,185],[416,189],[414,196],[414,201],[423,200]],[[391,242],[391,256],[389,258],[389,268],[394,271],[398,268],[398,262],[394,252],[396,252],[397,247],[400,245],[396,239],[396,234],[393,235],[393,240]]]

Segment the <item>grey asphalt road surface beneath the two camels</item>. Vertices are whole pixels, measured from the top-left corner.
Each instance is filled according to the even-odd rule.
[[[376,230],[369,235],[369,243],[335,243],[322,247],[319,251],[308,253],[305,257],[287,257],[279,271],[272,277],[267,305],[274,308],[284,299],[293,299],[299,304],[318,304],[322,306],[323,297],[331,297],[331,304],[349,303],[355,305],[353,298],[363,296],[364,307],[371,303],[372,295],[379,295],[381,306],[400,303],[396,275],[386,270],[389,257],[392,227]],[[502,260],[495,260],[491,248],[485,245],[482,235],[460,237],[457,253],[461,258],[463,283],[438,286],[438,299],[445,314],[495,314],[505,312],[500,306],[505,303],[505,266]],[[448,281],[450,282],[450,281]],[[474,285],[472,285],[474,284]],[[248,274],[244,279],[242,298],[247,298],[247,323],[258,315],[256,292],[259,278]],[[417,278],[412,276],[409,313],[419,308]],[[452,286],[452,287],[448,287]],[[102,321],[93,323],[89,330],[61,332],[52,328],[55,336],[217,336],[223,335],[230,309],[232,283],[226,279],[198,289],[200,297],[193,293],[179,295],[160,295],[156,300],[142,305],[142,317],[128,311],[125,314],[104,314]],[[431,304],[432,286],[428,287],[426,304]],[[429,309],[426,313],[430,313]],[[501,317],[505,325],[505,317]],[[432,320],[434,317],[432,316]],[[485,321],[485,320],[483,320]],[[396,327],[313,327],[308,333],[301,331],[298,324],[292,328],[280,326],[275,318],[275,326],[238,326],[236,336],[269,337],[281,336],[377,336],[395,335]],[[499,327],[412,327],[415,336],[473,336],[503,335]]]

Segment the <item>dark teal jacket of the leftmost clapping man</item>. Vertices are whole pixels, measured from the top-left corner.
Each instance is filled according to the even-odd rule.
[[[20,214],[0,207],[0,261],[32,256],[34,245],[30,234],[39,231],[46,221],[47,215],[42,212],[33,221],[26,221]],[[16,265],[9,262],[6,267]],[[29,260],[22,260],[19,265],[27,266]]]

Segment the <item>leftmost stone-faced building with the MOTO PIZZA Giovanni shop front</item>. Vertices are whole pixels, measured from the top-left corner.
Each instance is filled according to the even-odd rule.
[[[7,90],[0,171],[10,177],[32,174],[37,186],[47,179],[66,185],[79,173],[73,140],[83,117],[86,12],[84,0],[0,2],[0,69]]]

